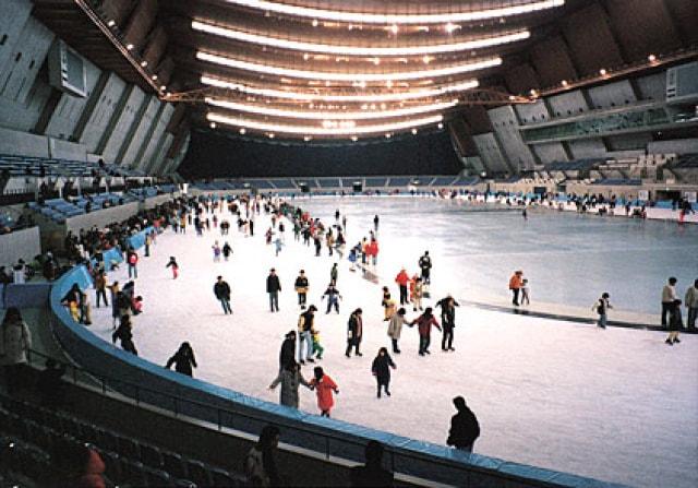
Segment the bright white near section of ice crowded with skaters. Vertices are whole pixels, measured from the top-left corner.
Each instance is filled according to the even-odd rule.
[[[328,201],[325,215],[334,213],[335,205]],[[353,213],[348,225],[348,241],[353,242],[372,225],[374,207],[351,201],[341,205]],[[384,221],[389,218],[397,217]],[[410,222],[410,215],[399,218],[406,227],[420,225]],[[274,246],[264,245],[267,227],[268,218],[262,215],[254,238],[244,238],[234,224],[227,238],[213,228],[196,237],[191,227],[186,235],[167,230],[158,237],[152,257],[139,264],[136,294],[144,297],[145,312],[134,319],[134,342],[142,357],[164,365],[181,342],[189,341],[200,365],[196,378],[278,401],[278,391],[267,385],[278,370],[284,334],[296,329],[300,310],[292,284],[303,267],[311,284],[309,302],[320,309],[316,324],[326,348],[322,366],[340,389],[335,418],[443,443],[454,414],[450,400],[464,395],[482,427],[476,443],[480,454],[634,486],[698,485],[697,336],[683,336],[682,344],[670,347],[657,332],[601,331],[460,307],[455,353],[441,352],[441,334],[434,331],[432,355],[419,357],[417,330],[404,330],[402,354],[394,356],[393,396],[377,400],[370,366],[378,347],[389,346],[381,320],[383,283],[363,279],[340,261],[341,313],[325,316],[320,295],[336,259],[325,249],[315,258],[311,248],[293,241],[290,226],[287,246],[276,258]],[[362,231],[352,230],[357,228]],[[430,240],[430,249],[447,243],[434,240],[457,238],[453,230],[434,234],[438,237]],[[414,250],[406,250],[397,236],[380,237],[383,253],[394,259],[404,253],[406,263],[417,260]],[[229,262],[213,262],[214,240],[230,242],[234,252]],[[169,255],[180,264],[177,281],[165,267]],[[272,266],[284,288],[281,311],[274,314],[265,293]],[[396,272],[381,264],[377,269],[394,295]],[[441,276],[446,282],[458,272],[441,271]],[[219,274],[232,288],[233,316],[224,316],[213,295]],[[124,266],[110,279],[123,284],[125,275]],[[434,298],[452,290],[438,282],[432,287]],[[364,310],[364,356],[347,359],[346,322],[357,307]],[[110,341],[110,309],[95,309],[94,318],[91,330]],[[303,371],[312,376],[312,368]],[[301,408],[317,412],[314,393],[301,391]]]

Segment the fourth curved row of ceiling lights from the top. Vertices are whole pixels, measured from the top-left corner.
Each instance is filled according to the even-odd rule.
[[[323,100],[323,102],[400,102],[416,98],[429,98],[444,95],[446,93],[465,92],[467,90],[477,88],[479,83],[477,80],[468,80],[455,84],[444,85],[437,88],[412,90],[409,92],[392,92],[392,93],[374,93],[374,94],[351,94],[351,95],[323,95],[309,92],[290,92],[284,90],[257,88],[254,86],[243,85],[237,82],[229,82],[210,76],[201,76],[201,82],[208,86],[218,88],[233,90],[250,95],[266,96],[272,98],[286,98],[293,100]]]

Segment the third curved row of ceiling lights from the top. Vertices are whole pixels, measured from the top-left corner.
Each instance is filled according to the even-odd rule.
[[[256,62],[243,61],[241,59],[226,58],[212,55],[209,52],[196,51],[196,58],[214,64],[234,68],[238,70],[253,71],[262,74],[273,74],[277,76],[301,78],[306,80],[323,80],[338,82],[386,82],[388,80],[419,80],[423,78],[450,76],[471,71],[484,70],[486,68],[502,64],[502,58],[488,58],[480,61],[453,64],[449,67],[435,68],[432,70],[419,71],[397,71],[392,73],[346,73],[338,71],[305,71],[293,68],[274,67],[258,64]]]

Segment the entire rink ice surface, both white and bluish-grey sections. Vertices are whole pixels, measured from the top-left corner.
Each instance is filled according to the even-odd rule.
[[[214,228],[204,237],[191,227],[186,235],[168,229],[152,257],[141,259],[135,289],[145,312],[134,318],[140,355],[164,365],[189,341],[198,361],[195,378],[277,402],[278,390],[267,386],[278,371],[284,334],[296,330],[300,310],[293,281],[304,269],[309,303],[320,309],[316,328],[325,347],[320,364],[340,389],[333,417],[444,443],[455,413],[450,400],[464,395],[482,427],[476,443],[480,454],[640,487],[698,484],[696,335],[683,335],[670,347],[661,332],[600,330],[461,306],[456,352],[443,353],[441,333],[434,331],[431,356],[420,357],[417,330],[405,328],[402,354],[393,355],[393,396],[377,400],[371,376],[377,349],[389,347],[381,286],[388,285],[397,297],[399,267],[416,272],[425,249],[434,262],[433,299],[425,306],[447,293],[504,303],[512,271],[522,269],[534,303],[552,302],[555,310],[592,318],[591,305],[607,290],[616,307],[611,319],[627,312],[655,323],[666,277],[678,277],[682,297],[696,278],[698,226],[544,211],[530,212],[524,222],[518,212],[468,212],[458,203],[410,198],[294,203],[326,223],[334,223],[335,209],[346,213],[349,245],[369,235],[378,214],[378,283],[350,272],[346,254],[329,258],[323,248],[315,258],[312,247],[293,241],[289,225],[276,258],[274,247],[264,243],[267,216],[258,216],[255,236],[245,238],[226,212],[229,236]],[[213,262],[215,240],[232,246],[229,262]],[[178,279],[165,267],[170,255],[180,264]],[[326,316],[320,297],[334,262],[340,263],[344,300],[340,314]],[[274,314],[265,293],[273,266],[282,286],[281,311]],[[232,288],[233,316],[224,316],[213,295],[217,275]],[[123,285],[125,266],[110,278]],[[346,324],[357,307],[364,311],[363,357],[347,359]],[[408,310],[408,318],[414,317]],[[91,330],[110,342],[110,308],[95,309],[93,320]],[[312,367],[303,373],[310,379]],[[301,409],[317,413],[313,392],[301,389]]]

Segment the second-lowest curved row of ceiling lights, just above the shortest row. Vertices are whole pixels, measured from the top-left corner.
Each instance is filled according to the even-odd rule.
[[[272,108],[260,105],[242,104],[239,102],[221,100],[212,97],[205,98],[206,104],[214,107],[227,108],[229,110],[244,111],[249,114],[256,114],[261,116],[284,117],[291,119],[313,119],[313,120],[340,120],[340,119],[384,119],[390,117],[406,117],[418,114],[428,114],[432,111],[441,111],[452,108],[456,103],[442,102],[440,104],[417,105],[413,107],[396,108],[393,110],[385,110],[385,105],[382,105],[382,111],[336,111],[336,112],[323,112],[323,111],[308,111],[308,110],[287,110],[279,108]]]

